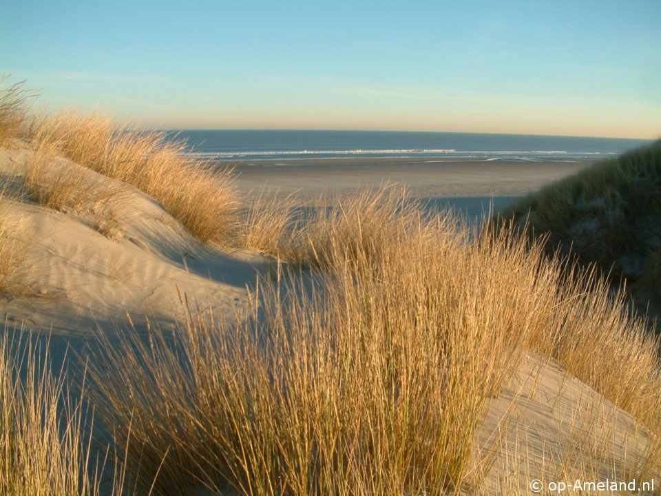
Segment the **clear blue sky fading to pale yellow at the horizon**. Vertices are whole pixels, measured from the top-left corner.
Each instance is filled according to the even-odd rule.
[[[159,129],[661,137],[661,1],[21,0],[0,73]]]

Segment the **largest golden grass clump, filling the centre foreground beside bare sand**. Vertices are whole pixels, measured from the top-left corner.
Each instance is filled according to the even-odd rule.
[[[136,479],[158,472],[162,494],[471,490],[487,464],[478,433],[490,398],[529,353],[658,439],[659,343],[621,295],[578,268],[566,278],[566,262],[514,229],[467,236],[453,216],[415,214],[390,195],[355,200],[378,211],[373,225],[360,210],[354,223],[347,209],[333,218],[343,236],[305,259],[324,270],[261,282],[247,318],[187,309],[174,333],[105,341],[98,412],[118,440],[130,432]],[[656,451],[648,462],[658,468]]]

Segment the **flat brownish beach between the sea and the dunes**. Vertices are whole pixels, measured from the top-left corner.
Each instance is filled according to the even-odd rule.
[[[241,194],[264,189],[293,195],[301,206],[381,185],[406,187],[411,196],[479,214],[500,209],[554,180],[576,174],[594,160],[516,161],[500,158],[316,158],[231,163]]]

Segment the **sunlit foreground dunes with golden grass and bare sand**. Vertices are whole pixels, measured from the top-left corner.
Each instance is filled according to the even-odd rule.
[[[398,187],[301,219],[291,202],[240,205],[229,176],[176,169],[181,189],[210,178],[198,191],[212,194],[224,181],[231,229],[214,221],[199,235],[176,203],[151,196],[158,175],[105,174],[105,155],[74,160],[62,144],[108,121],[56,116],[66,125],[46,134],[35,131],[52,129],[43,118],[6,125],[23,112],[16,95],[0,99],[0,268],[18,285],[0,288],[3,490],[385,496],[658,483],[658,338],[594,271],[547,258],[514,229],[470,233]],[[121,149],[143,146],[145,134],[114,129],[85,149],[116,136]],[[16,333],[70,347],[86,386],[36,362],[36,380],[21,379]],[[84,442],[92,425],[76,394],[94,406],[92,436],[107,437]],[[26,423],[23,404],[56,422]],[[36,426],[48,443],[20,435]],[[50,472],[48,453],[61,459]]]

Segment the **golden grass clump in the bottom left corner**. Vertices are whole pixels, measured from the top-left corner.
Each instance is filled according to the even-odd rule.
[[[5,328],[0,338],[0,494],[99,495],[100,480],[88,473],[82,403],[72,400],[63,373],[52,375],[48,360],[10,335]]]

